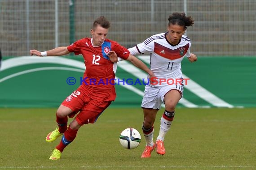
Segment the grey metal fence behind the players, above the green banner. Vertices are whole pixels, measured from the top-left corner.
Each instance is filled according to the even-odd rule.
[[[133,47],[167,31],[173,12],[194,18],[186,34],[198,56],[256,56],[256,0],[0,0],[0,49],[21,56],[68,46],[90,37],[101,15],[108,38]]]

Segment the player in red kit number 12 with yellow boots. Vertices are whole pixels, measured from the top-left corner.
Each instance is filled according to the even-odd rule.
[[[86,67],[82,85],[71,93],[57,109],[58,128],[46,136],[46,141],[52,142],[63,135],[49,158],[51,160],[60,159],[63,149],[75,139],[78,129],[84,124],[94,123],[115,100],[116,63],[114,62],[117,61],[117,55],[141,68],[151,77],[154,76],[153,72],[141,60],[130,55],[126,48],[115,41],[106,39],[109,27],[110,22],[102,16],[93,23],[92,38],[83,38],[68,47],[57,47],[49,51],[30,51],[30,55],[37,56],[60,56],[71,52],[75,55],[82,54]],[[75,115],[75,119],[67,126],[68,117]]]

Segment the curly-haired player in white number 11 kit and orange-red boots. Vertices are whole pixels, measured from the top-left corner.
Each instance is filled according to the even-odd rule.
[[[145,86],[145,94],[141,104],[144,114],[142,131],[146,139],[146,148],[141,157],[151,157],[151,152],[155,147],[156,153],[165,154],[163,140],[170,130],[175,115],[175,107],[183,93],[182,81],[172,84],[168,81],[161,82],[159,80],[183,80],[182,59],[187,57],[190,62],[197,60],[196,55],[190,53],[190,38],[183,35],[187,27],[194,24],[193,18],[187,17],[185,13],[172,13],[168,21],[167,32],[155,34],[143,43],[128,49],[132,55],[149,52],[150,69],[155,75],[154,83]],[[154,143],[154,121],[162,102],[165,105],[165,111],[160,120],[159,136]]]

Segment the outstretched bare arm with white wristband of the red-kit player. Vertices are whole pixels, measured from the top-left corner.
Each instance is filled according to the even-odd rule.
[[[68,51],[67,47],[57,47],[49,51],[37,51],[37,50],[30,50],[30,55],[36,55],[36,56],[61,56],[71,53]]]

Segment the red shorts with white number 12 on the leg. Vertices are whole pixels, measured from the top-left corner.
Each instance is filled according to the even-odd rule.
[[[80,86],[62,102],[62,105],[72,110],[72,113],[68,115],[70,118],[79,112],[75,119],[82,126],[83,124],[96,122],[97,118],[111,102],[89,96],[86,90]]]

